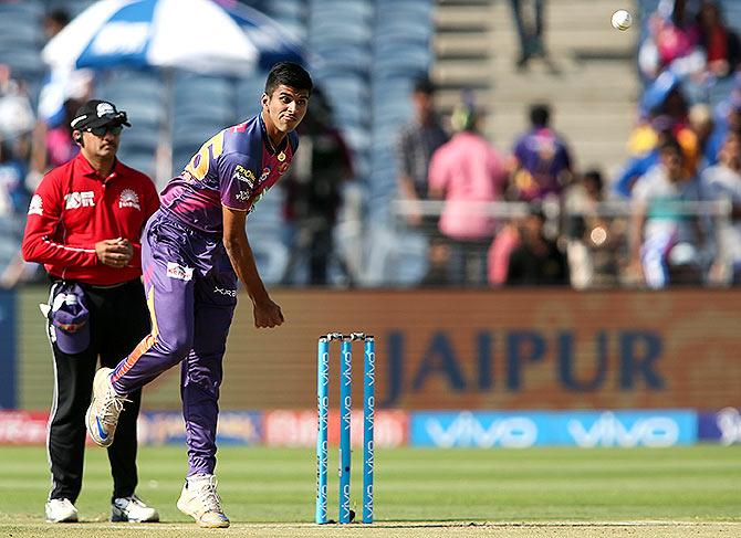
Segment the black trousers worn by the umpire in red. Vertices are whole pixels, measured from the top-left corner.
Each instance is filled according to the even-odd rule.
[[[139,279],[114,287],[82,284],[90,310],[90,347],[66,355],[52,342],[54,352],[54,395],[50,413],[48,449],[52,472],[49,498],[77,499],[82,488],[85,450],[85,412],[91,401],[93,377],[101,366],[113,368],[149,334],[149,313]],[[59,283],[51,288],[50,305]],[[48,326],[49,330],[49,326]],[[107,449],[113,475],[113,497],[134,494],[136,473],[136,418],[142,391],[127,397],[118,419],[116,436]]]

